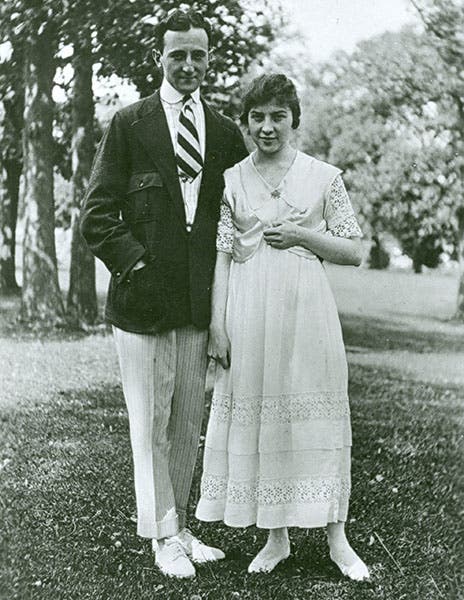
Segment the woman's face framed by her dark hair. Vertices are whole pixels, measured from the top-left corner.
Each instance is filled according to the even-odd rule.
[[[248,113],[248,129],[258,149],[265,154],[275,154],[286,146],[292,137],[293,116],[288,106],[267,104],[254,106]]]

